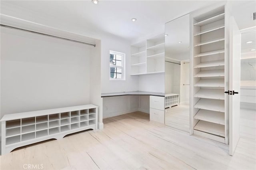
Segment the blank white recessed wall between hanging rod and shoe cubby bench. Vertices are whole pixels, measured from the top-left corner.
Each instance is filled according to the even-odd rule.
[[[89,82],[88,45],[1,28],[1,117],[89,104]]]

